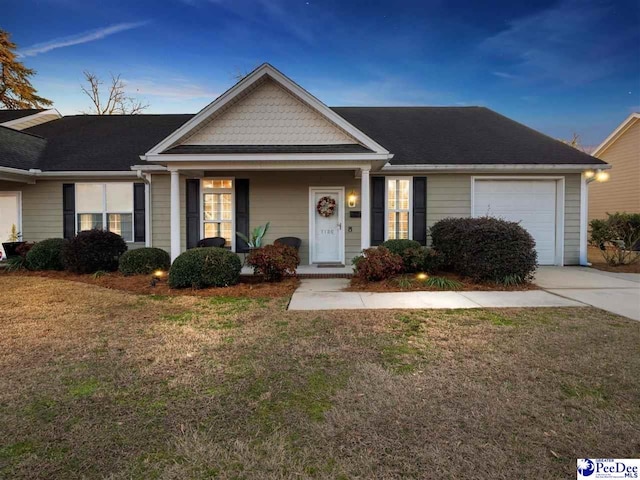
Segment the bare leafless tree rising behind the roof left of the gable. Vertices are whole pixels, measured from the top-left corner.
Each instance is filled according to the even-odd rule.
[[[148,103],[127,96],[126,84],[120,79],[120,75],[111,74],[111,83],[108,92],[103,95],[101,92],[104,82],[91,72],[83,72],[88,86],[82,85],[82,91],[91,99],[92,106],[84,114],[91,115],[135,115],[149,108]],[[106,98],[105,98],[106,96]]]

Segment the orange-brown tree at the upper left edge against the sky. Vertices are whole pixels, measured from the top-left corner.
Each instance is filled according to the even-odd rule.
[[[37,95],[29,77],[35,70],[18,61],[16,44],[9,32],[0,30],[0,106],[10,110],[21,108],[43,108],[53,102]]]

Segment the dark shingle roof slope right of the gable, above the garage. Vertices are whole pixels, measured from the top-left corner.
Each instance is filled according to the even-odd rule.
[[[334,107],[392,165],[605,163],[484,107]]]

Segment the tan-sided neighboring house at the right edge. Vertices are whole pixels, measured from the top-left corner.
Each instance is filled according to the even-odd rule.
[[[632,113],[592,153],[613,168],[608,182],[589,185],[589,220],[640,213],[640,113]]]

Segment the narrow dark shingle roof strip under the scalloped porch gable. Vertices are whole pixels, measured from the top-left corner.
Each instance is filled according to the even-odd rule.
[[[359,143],[333,145],[178,145],[164,153],[371,153]]]

